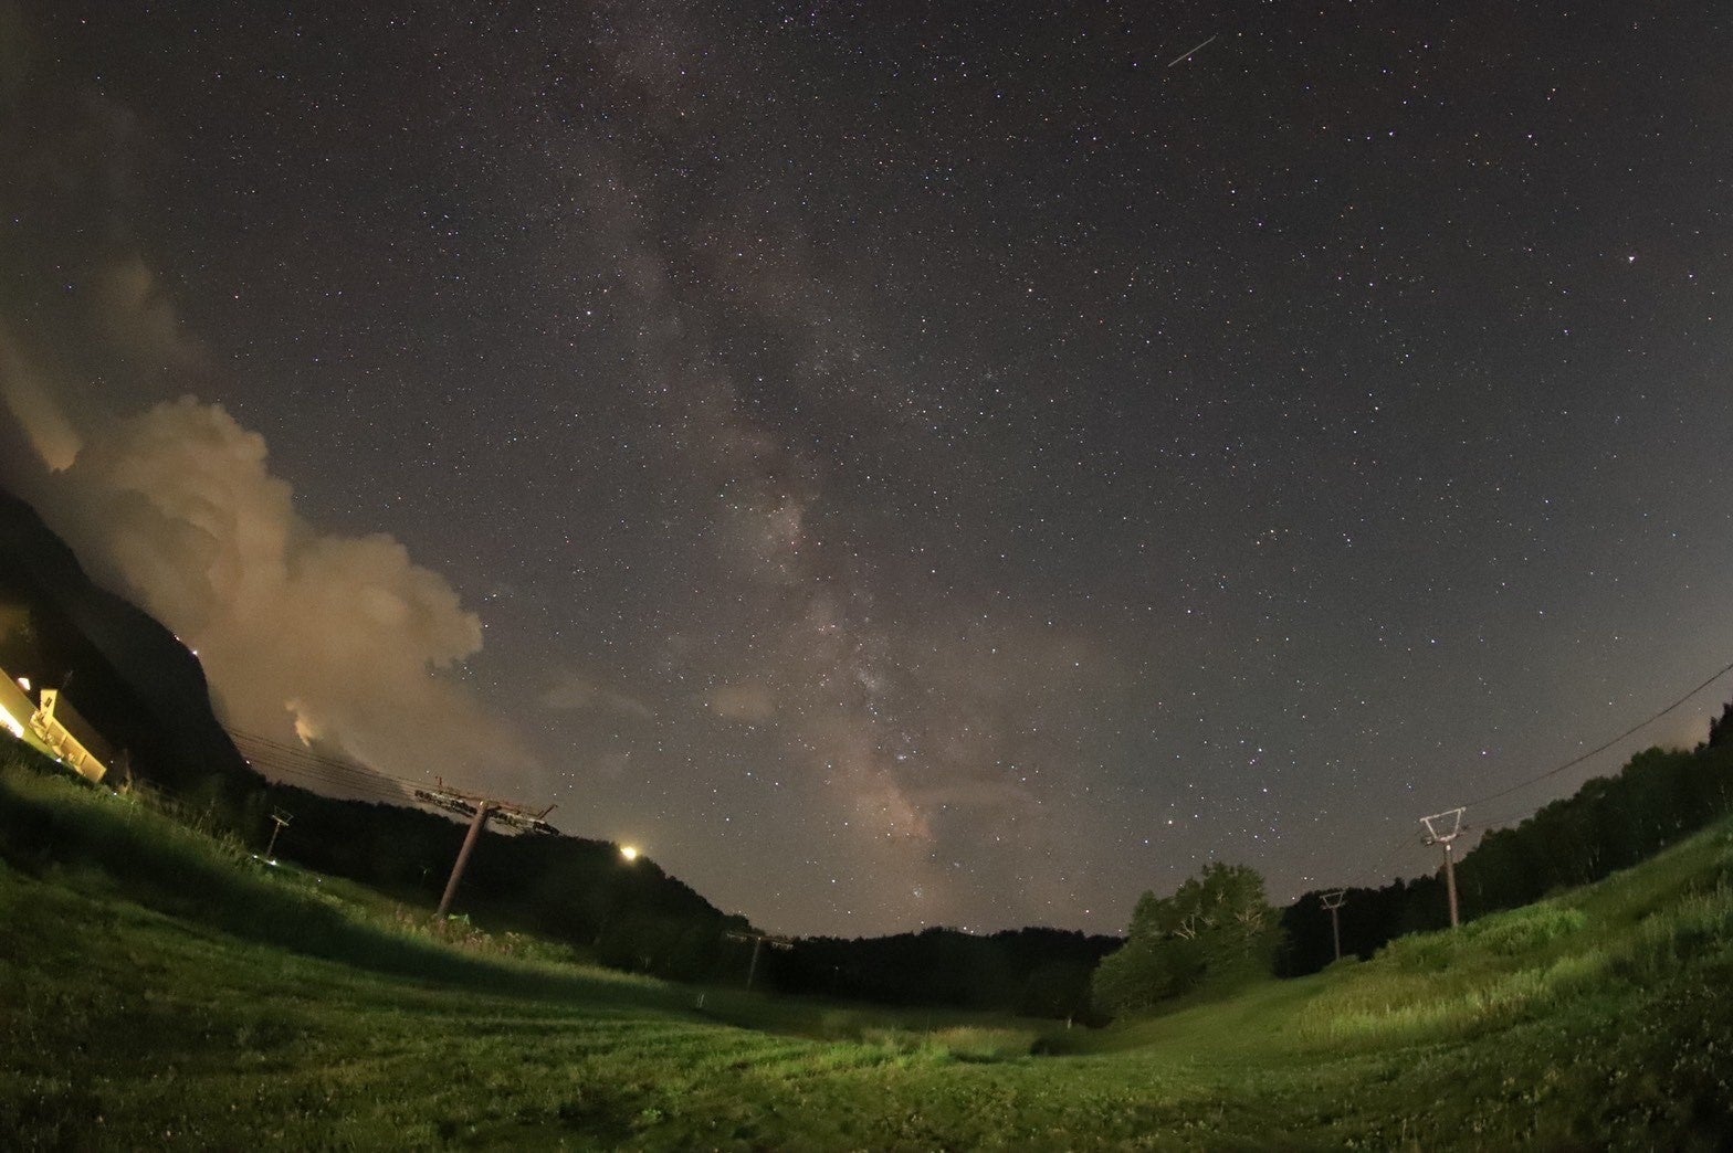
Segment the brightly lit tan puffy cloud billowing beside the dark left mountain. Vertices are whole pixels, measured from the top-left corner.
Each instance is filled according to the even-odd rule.
[[[80,556],[199,651],[234,727],[416,777],[532,762],[442,675],[482,646],[452,587],[386,535],[300,518],[263,438],[218,405],[113,422],[54,497]]]

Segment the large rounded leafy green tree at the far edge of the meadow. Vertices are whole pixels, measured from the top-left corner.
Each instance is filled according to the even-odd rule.
[[[1267,973],[1279,938],[1258,871],[1210,862],[1172,897],[1139,899],[1125,947],[1095,969],[1095,1006],[1147,1009],[1204,982]]]

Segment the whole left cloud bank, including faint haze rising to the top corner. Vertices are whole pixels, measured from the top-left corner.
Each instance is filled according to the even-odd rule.
[[[0,2],[0,211],[28,225],[0,246],[0,481],[198,651],[230,727],[414,779],[532,765],[459,679],[482,622],[451,583],[322,531],[263,436],[182,395],[227,383],[128,227],[144,128],[23,24]]]

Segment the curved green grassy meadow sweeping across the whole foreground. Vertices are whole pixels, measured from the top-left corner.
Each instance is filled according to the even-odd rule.
[[[1730,824],[1456,935],[1107,1030],[697,990],[563,956],[444,942],[367,890],[0,770],[0,1146],[1733,1137]]]

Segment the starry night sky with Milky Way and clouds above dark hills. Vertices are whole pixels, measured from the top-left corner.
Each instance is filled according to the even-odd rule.
[[[5,480],[236,727],[768,930],[1412,876],[1733,661],[1730,61],[1710,0],[0,3]]]

